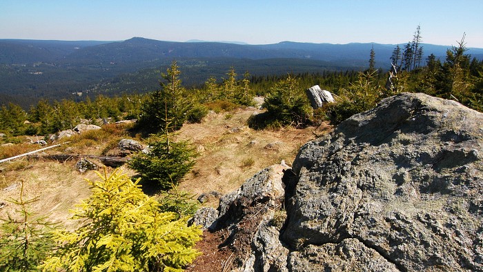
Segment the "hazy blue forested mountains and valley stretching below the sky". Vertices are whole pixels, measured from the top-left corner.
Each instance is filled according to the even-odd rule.
[[[179,61],[184,82],[188,84],[202,84],[210,76],[224,75],[231,66],[240,74],[248,70],[252,75],[362,70],[368,66],[371,48],[375,50],[376,66],[386,69],[395,46],[292,41],[248,45],[157,41],[140,37],[126,41],[0,39],[0,104],[24,100],[23,97],[68,97],[72,93],[106,86],[110,81],[121,81],[123,77],[143,76],[140,74],[143,70],[164,70],[172,60]],[[442,59],[451,48],[422,46],[424,57],[433,53]],[[469,48],[467,53],[483,59],[483,48]],[[157,81],[143,88],[156,88],[156,85]],[[123,91],[110,90],[112,93]]]

